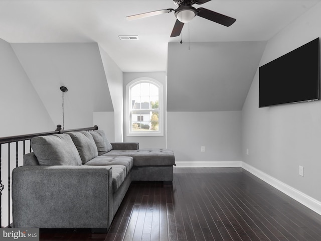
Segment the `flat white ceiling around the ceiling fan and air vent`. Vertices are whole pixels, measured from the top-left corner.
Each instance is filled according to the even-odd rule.
[[[183,42],[267,41],[319,1],[212,0],[203,7],[233,17],[225,27],[196,17],[182,31]],[[0,38],[9,43],[97,42],[123,72],[166,71],[174,12],[128,21],[128,15],[176,9],[172,0],[0,1]],[[189,28],[188,28],[189,27]],[[138,41],[119,40],[138,35]],[[189,36],[189,37],[188,37]]]

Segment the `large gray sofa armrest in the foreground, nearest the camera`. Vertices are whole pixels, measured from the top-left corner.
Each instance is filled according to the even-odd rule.
[[[13,170],[14,227],[108,228],[112,169],[21,166]]]

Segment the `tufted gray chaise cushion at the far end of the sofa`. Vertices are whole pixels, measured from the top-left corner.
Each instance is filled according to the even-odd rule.
[[[134,166],[173,166],[175,156],[170,149],[111,150],[102,156],[130,156]]]

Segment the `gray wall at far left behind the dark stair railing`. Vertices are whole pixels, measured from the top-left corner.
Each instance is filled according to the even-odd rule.
[[[55,131],[52,121],[42,100],[21,66],[11,45],[0,39],[0,136],[16,136],[31,133]],[[26,143],[28,146],[28,142]],[[15,143],[11,145],[11,160],[16,160]],[[2,220],[8,223],[8,145],[2,145]],[[20,150],[23,150],[20,147]],[[19,153],[22,165],[23,153]],[[13,169],[15,165],[11,165]],[[11,218],[12,220],[12,218]]]

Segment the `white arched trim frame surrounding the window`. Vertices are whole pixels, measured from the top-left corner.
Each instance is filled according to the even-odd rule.
[[[132,132],[131,131],[131,95],[130,89],[132,86],[139,83],[151,83],[158,87],[158,131],[140,131],[140,132]],[[125,125],[127,130],[128,137],[151,137],[151,136],[164,136],[164,92],[163,92],[163,84],[159,81],[143,77],[132,80],[126,85],[126,114],[125,114]]]

